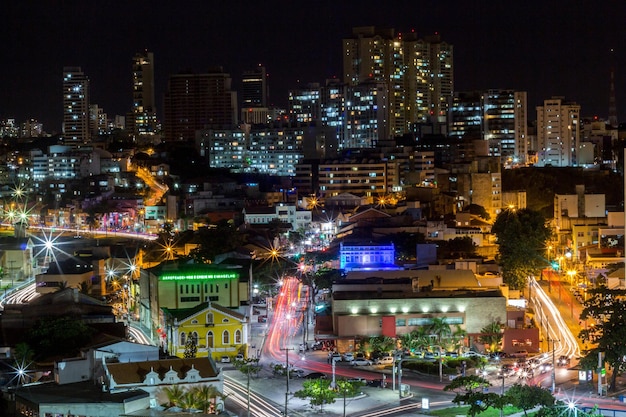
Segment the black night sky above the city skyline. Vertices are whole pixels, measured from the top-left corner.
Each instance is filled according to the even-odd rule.
[[[626,122],[624,1],[6,0],[0,16],[0,118],[32,117],[47,132],[61,128],[64,66],[83,68],[109,117],[130,109],[142,50],[154,52],[159,112],[169,74],[222,66],[238,89],[259,63],[270,102],[286,106],[289,88],[341,77],[341,40],[355,26],[438,32],[454,45],[456,91],[528,91],[529,119],[553,95],[607,117],[614,49]]]

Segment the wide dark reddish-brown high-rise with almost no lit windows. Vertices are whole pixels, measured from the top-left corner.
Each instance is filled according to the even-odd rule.
[[[166,141],[193,141],[202,129],[230,129],[237,123],[237,93],[221,67],[204,74],[171,75],[163,100]]]

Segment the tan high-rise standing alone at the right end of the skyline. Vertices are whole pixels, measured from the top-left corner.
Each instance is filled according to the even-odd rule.
[[[537,166],[577,166],[580,145],[580,105],[563,97],[537,106]]]

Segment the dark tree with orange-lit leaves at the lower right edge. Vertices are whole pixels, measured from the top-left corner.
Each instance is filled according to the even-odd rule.
[[[580,314],[581,320],[592,319],[596,324],[580,332],[585,343],[595,347],[585,351],[581,365],[585,369],[595,369],[598,356],[612,368],[609,390],[614,391],[617,375],[626,370],[626,290],[610,290],[604,286],[587,291],[587,301]]]

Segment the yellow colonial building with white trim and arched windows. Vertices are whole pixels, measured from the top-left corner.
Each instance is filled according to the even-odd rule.
[[[187,342],[194,340],[197,358],[247,357],[250,323],[235,310],[209,301],[193,308],[161,308],[161,316],[157,332],[171,355],[183,358]]]

